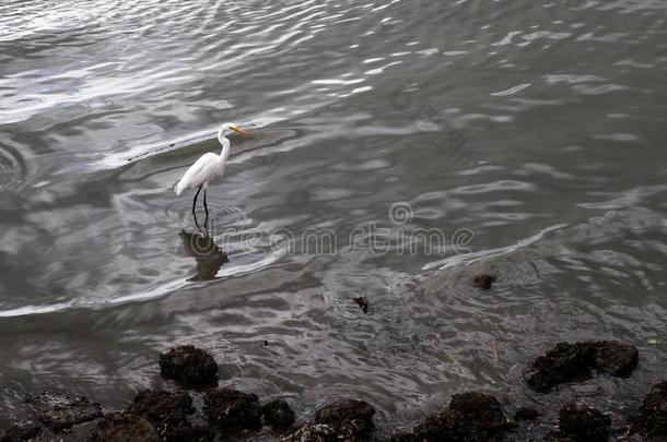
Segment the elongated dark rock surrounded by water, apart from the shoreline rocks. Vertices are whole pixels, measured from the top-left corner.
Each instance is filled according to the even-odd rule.
[[[559,343],[533,361],[524,379],[536,392],[546,393],[560,383],[589,377],[590,369],[616,377],[629,375],[637,360],[637,349],[628,344],[610,341]]]

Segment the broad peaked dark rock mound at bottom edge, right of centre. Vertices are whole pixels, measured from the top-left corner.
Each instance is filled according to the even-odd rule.
[[[470,392],[455,394],[447,409],[428,417],[413,433],[418,441],[481,442],[514,427],[495,397]]]

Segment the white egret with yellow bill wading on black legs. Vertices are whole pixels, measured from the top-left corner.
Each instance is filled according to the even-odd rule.
[[[197,214],[195,213],[195,208],[197,207],[197,196],[199,196],[199,192],[203,188],[203,210],[206,211],[207,217],[204,222],[204,226],[209,219],[209,207],[207,206],[207,189],[209,188],[209,183],[213,181],[218,177],[222,177],[224,174],[224,167],[227,164],[227,157],[230,156],[230,140],[225,135],[231,133],[237,133],[243,136],[248,136],[247,133],[238,129],[238,127],[234,123],[224,123],[220,127],[218,131],[218,141],[222,144],[222,152],[220,155],[215,155],[212,152],[208,152],[199,157],[198,160],[195,162],[194,165],[189,167],[189,169],[183,175],[180,181],[174,188],[174,192],[178,196],[180,194],[192,188],[197,188],[197,193],[195,193],[195,200],[192,201],[192,215],[195,216],[195,224],[197,224]],[[199,224],[197,224],[199,226]]]

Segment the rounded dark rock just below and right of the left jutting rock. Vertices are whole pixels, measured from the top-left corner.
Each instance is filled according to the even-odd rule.
[[[204,413],[218,428],[256,429],[261,427],[261,407],[257,395],[221,387],[208,392]]]

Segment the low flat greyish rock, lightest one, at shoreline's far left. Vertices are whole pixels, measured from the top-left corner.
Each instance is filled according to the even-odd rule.
[[[39,420],[56,430],[102,416],[100,404],[84,396],[43,392],[31,394],[25,401],[36,408]]]

